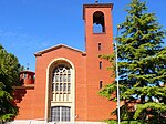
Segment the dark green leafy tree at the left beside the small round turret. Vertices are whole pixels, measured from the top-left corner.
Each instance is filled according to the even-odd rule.
[[[6,122],[18,114],[13,102],[13,85],[19,84],[18,59],[0,45],[0,120]]]

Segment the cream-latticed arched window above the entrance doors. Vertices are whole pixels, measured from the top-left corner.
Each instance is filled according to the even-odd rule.
[[[71,94],[71,68],[59,64],[52,72],[52,93],[54,101],[69,101]]]

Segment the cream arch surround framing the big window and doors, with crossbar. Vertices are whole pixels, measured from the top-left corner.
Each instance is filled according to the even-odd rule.
[[[72,104],[63,104],[63,103],[55,103],[54,106],[61,106],[61,105],[66,105],[66,106],[71,106],[71,122],[75,121],[75,68],[74,64],[65,59],[65,58],[56,58],[54,60],[52,60],[46,69],[46,89],[45,89],[45,121],[50,121],[49,118],[49,106],[51,103],[49,103],[49,93],[50,93],[50,80],[51,80],[51,74],[54,70],[55,66],[60,65],[61,63],[63,64],[68,64],[71,69],[72,69],[72,90],[71,90],[71,94],[72,94]]]

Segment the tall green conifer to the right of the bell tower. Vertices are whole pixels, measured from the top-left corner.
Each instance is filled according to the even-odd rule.
[[[132,0],[127,16],[120,24],[118,71],[121,115],[143,123],[166,123],[166,48],[163,39],[166,32],[157,22],[155,13],[148,13],[146,2]],[[114,62],[114,55],[101,58]],[[115,68],[115,66],[114,66]],[[116,82],[106,85],[100,94],[116,100]],[[128,105],[134,103],[135,110]],[[123,116],[122,116],[123,117]]]

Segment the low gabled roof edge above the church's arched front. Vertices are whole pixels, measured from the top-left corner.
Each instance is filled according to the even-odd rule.
[[[55,45],[55,46],[51,46],[51,48],[49,48],[49,49],[39,51],[39,52],[34,53],[34,55],[35,55],[35,56],[41,56],[41,55],[44,54],[44,53],[48,53],[48,52],[51,52],[51,51],[53,51],[53,50],[58,50],[58,49],[61,49],[61,48],[65,48],[65,49],[70,49],[70,50],[75,51],[75,52],[80,52],[80,53],[83,54],[83,55],[86,54],[84,51],[81,51],[81,50],[77,50],[77,49],[74,49],[74,48],[64,45],[64,44],[58,44],[58,45]]]

